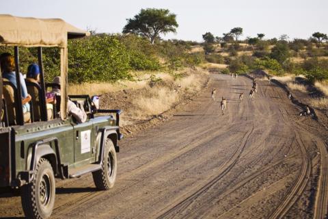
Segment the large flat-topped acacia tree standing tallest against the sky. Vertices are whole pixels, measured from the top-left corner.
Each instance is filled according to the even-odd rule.
[[[139,14],[126,21],[128,23],[123,28],[123,34],[145,36],[152,44],[156,38],[159,38],[159,34],[175,33],[178,27],[176,14],[170,13],[167,9],[141,9]]]

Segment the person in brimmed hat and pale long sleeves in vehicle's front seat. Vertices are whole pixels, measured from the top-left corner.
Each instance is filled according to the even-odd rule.
[[[60,77],[55,77],[53,79],[53,83],[60,85]],[[59,88],[53,88],[51,92],[55,93],[57,96],[60,96]],[[67,111],[68,114],[72,115],[77,120],[77,123],[84,123],[87,120],[87,114],[85,114],[83,110],[77,107],[77,105],[70,100],[67,102]]]

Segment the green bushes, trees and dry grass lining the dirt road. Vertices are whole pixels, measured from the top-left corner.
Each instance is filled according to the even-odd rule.
[[[286,34],[279,38],[265,38],[265,34],[243,36],[242,27],[234,27],[222,36],[210,31],[202,35],[204,42],[163,40],[161,36],[176,32],[176,14],[165,9],[147,8],[126,19],[122,34],[98,34],[68,42],[69,93],[105,94],[120,90],[138,90],[148,86],[149,81],[169,75],[173,81],[191,77],[179,75],[182,70],[197,67],[221,73],[249,73],[266,70],[270,75],[283,79],[285,75],[303,75],[309,86],[321,90],[327,96],[328,38],[327,34],[315,32],[308,39],[290,39]],[[13,53],[12,48],[0,47],[0,53]],[[44,71],[46,81],[59,75],[59,51],[44,48]],[[20,70],[37,62],[36,49],[20,48]],[[165,76],[166,77],[166,76]],[[193,80],[199,79],[198,77]],[[161,79],[163,80],[163,79]],[[178,83],[178,82],[174,82]],[[306,92],[307,85],[293,80],[286,81],[292,90]],[[148,105],[154,96],[170,103],[176,98],[172,90],[160,88],[149,98],[139,99],[139,105]],[[161,96],[162,94],[169,94]],[[161,105],[160,103],[156,105]],[[159,107],[161,112],[165,107]],[[150,110],[146,110],[150,111]],[[152,112],[152,113],[154,113]]]

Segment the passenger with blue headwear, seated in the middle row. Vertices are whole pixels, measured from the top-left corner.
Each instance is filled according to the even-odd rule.
[[[36,83],[38,86],[40,85],[40,68],[37,64],[30,64],[27,68],[26,80],[30,83]],[[36,86],[27,86],[27,90],[29,94],[32,96],[33,103],[33,114],[34,119],[36,121],[40,120],[40,99],[39,99],[39,90]],[[53,98],[46,99],[46,112],[48,114],[48,118],[53,118]]]

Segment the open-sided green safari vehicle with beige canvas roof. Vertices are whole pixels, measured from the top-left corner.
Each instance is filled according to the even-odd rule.
[[[119,151],[120,110],[99,110],[88,95],[68,96],[68,39],[89,35],[61,19],[21,18],[0,15],[0,46],[13,47],[16,83],[18,47],[37,47],[40,66],[38,92],[40,118],[31,109],[31,120],[25,123],[20,86],[0,79],[0,187],[19,188],[27,218],[49,218],[55,203],[55,177],[70,179],[92,172],[96,188],[109,190],[115,183]],[[42,47],[60,48],[60,104],[53,118],[46,113],[46,83],[42,64]],[[1,77],[1,76],[0,76]],[[48,86],[56,86],[48,84]],[[57,85],[59,86],[59,85]],[[8,92],[12,90],[12,94]],[[8,97],[9,96],[9,97]],[[83,108],[85,123],[77,124],[67,111],[68,98]],[[10,113],[13,111],[12,113]]]

